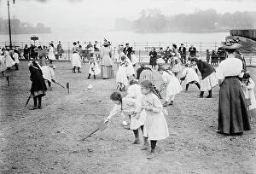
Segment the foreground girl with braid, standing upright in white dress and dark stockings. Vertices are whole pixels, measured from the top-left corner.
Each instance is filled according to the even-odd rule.
[[[151,144],[151,151],[147,159],[154,158],[154,149],[158,140],[166,139],[169,136],[168,125],[163,113],[163,106],[159,97],[154,91],[154,85],[145,80],[141,83],[143,93],[141,106],[137,107],[137,119],[139,113],[144,109],[146,111],[146,119],[144,123],[144,146],[142,150],[148,149],[148,139]]]

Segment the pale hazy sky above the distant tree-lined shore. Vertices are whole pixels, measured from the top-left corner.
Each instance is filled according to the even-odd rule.
[[[12,2],[12,0],[10,0]],[[162,14],[189,14],[197,9],[218,13],[256,11],[255,0],[15,0],[11,15],[53,29],[114,27],[114,19],[138,18],[142,9],[161,9]],[[7,18],[7,0],[0,0],[0,16]],[[256,17],[256,16],[255,16]]]

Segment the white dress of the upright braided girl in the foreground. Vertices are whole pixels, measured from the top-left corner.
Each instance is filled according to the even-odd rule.
[[[153,93],[144,95],[141,102],[141,108],[143,107],[153,109],[153,111],[146,111],[143,136],[148,137],[149,140],[166,139],[169,131],[160,99]]]

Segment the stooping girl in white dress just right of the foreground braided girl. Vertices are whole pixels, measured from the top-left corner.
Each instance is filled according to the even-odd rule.
[[[158,72],[162,74],[162,79],[164,81],[163,88],[161,90],[166,89],[166,102],[163,104],[163,107],[167,107],[169,105],[173,105],[175,95],[182,91],[182,87],[179,84],[178,79],[173,75],[173,73],[169,70],[166,70],[164,67],[159,67]],[[168,103],[171,99],[171,102]]]

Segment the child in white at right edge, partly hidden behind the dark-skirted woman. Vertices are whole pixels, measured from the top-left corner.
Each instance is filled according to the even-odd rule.
[[[255,96],[254,96],[254,82],[253,79],[250,78],[250,74],[249,73],[244,73],[243,77],[241,78],[241,88],[244,92],[244,95],[246,97],[246,99],[250,100],[251,105],[248,105],[249,110],[253,110],[256,108],[256,101],[255,101]]]

